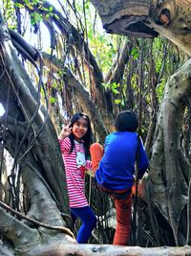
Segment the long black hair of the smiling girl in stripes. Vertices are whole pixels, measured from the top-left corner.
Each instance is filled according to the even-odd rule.
[[[74,114],[74,116],[71,119],[70,128],[73,128],[74,123],[77,122],[80,118],[84,118],[87,121],[87,125],[88,125],[86,134],[81,138],[83,140],[85,156],[87,158],[90,156],[90,145],[93,142],[90,118],[83,113],[76,113],[76,114]],[[73,132],[69,135],[69,139],[71,141],[71,151],[70,152],[72,152],[74,150],[74,134],[73,134]]]

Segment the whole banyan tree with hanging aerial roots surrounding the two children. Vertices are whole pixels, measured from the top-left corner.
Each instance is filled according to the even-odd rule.
[[[191,1],[58,2],[59,10],[47,1],[3,1],[1,6],[0,254],[188,255]],[[101,41],[116,57],[104,66],[103,56],[97,58],[104,47],[97,51],[87,30],[93,12],[107,33],[121,35],[116,52],[111,42]],[[40,24],[48,29],[48,51],[26,39],[29,17],[36,35],[45,36]],[[150,158],[134,198],[129,243],[138,246],[109,245],[113,202],[96,191],[91,174],[86,193],[97,226],[91,244],[76,244],[57,132],[74,111],[84,111],[94,140],[103,143],[125,108],[137,109],[138,132]]]

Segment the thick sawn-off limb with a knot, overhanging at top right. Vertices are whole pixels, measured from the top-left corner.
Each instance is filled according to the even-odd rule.
[[[168,38],[191,56],[191,0],[91,0],[111,34]]]

